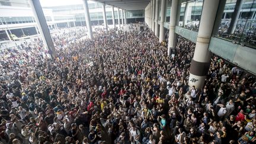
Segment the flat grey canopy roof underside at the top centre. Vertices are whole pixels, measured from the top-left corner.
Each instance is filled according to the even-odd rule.
[[[150,0],[94,0],[126,10],[145,9]]]

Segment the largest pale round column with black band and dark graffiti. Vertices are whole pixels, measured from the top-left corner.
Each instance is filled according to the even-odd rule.
[[[208,47],[218,5],[219,0],[204,0],[196,49],[190,65],[190,77],[188,79],[190,87],[194,85],[197,89],[202,88],[209,71],[212,53],[208,50]]]

